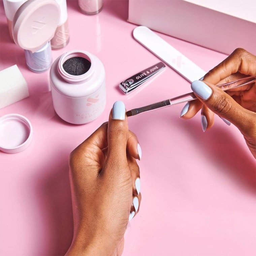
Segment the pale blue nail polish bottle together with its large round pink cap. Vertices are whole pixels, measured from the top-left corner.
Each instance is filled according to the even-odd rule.
[[[51,67],[53,38],[60,18],[55,0],[28,0],[16,11],[12,22],[14,42],[25,50],[27,66],[34,72]]]

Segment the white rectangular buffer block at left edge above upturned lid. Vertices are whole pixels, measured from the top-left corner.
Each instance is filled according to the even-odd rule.
[[[17,65],[0,71],[0,108],[28,96],[27,82]]]

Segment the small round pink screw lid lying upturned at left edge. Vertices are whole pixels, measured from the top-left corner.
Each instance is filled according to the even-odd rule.
[[[0,117],[0,150],[18,153],[26,149],[32,141],[33,129],[30,121],[19,114]]]

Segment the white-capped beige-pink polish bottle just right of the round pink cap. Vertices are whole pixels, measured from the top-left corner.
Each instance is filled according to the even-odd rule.
[[[54,37],[51,40],[51,45],[53,50],[58,50],[65,47],[69,42],[68,12],[66,0],[55,1],[60,6],[60,20]]]

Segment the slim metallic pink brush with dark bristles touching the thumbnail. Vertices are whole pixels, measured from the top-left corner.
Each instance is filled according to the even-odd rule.
[[[244,77],[244,78],[238,79],[236,81],[231,81],[231,82],[221,84],[221,85],[216,85],[216,86],[221,88],[223,91],[228,91],[233,88],[237,88],[240,86],[254,83],[255,81],[256,81],[256,76],[249,76],[249,77]],[[195,94],[193,92],[190,92],[190,93],[186,93],[186,94],[180,95],[175,98],[171,98],[171,99],[156,102],[156,103],[153,103],[153,104],[150,104],[147,106],[131,109],[126,112],[126,116],[127,117],[135,116],[135,115],[138,115],[143,112],[148,112],[148,111],[152,111],[152,110],[158,109],[158,108],[173,106],[173,105],[177,105],[177,104],[188,102],[188,101],[195,100],[195,99],[197,99]]]

